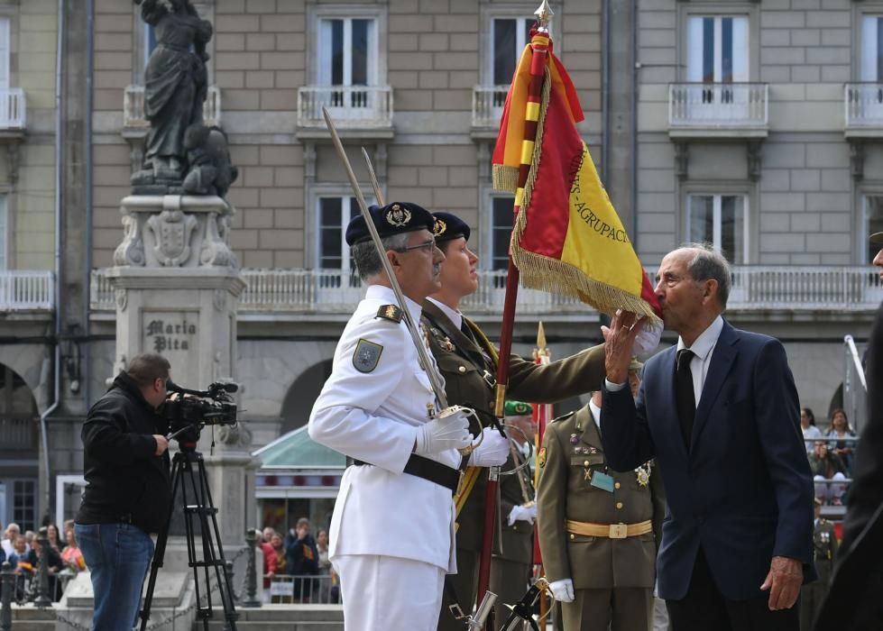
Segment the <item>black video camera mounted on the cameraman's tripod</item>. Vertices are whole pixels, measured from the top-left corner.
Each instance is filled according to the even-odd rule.
[[[162,416],[169,422],[170,434],[167,438],[177,438],[185,430],[190,439],[204,425],[235,425],[236,404],[232,394],[239,386],[230,381],[216,381],[205,390],[181,388],[172,380],[166,381],[166,389],[170,393],[178,393],[178,398],[166,399],[162,408]],[[183,436],[180,440],[183,440]]]

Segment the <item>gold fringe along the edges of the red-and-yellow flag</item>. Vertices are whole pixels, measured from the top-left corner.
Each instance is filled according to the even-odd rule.
[[[547,291],[551,294],[575,297],[607,315],[613,315],[617,309],[623,309],[643,315],[651,322],[658,323],[658,315],[653,312],[652,307],[643,298],[599,280],[590,279],[583,270],[576,268],[570,263],[520,247],[520,237],[528,227],[526,210],[530,207],[530,197],[533,194],[533,187],[537,181],[551,83],[549,71],[546,69],[537,124],[537,140],[534,143],[533,156],[531,156],[530,160],[528,180],[524,185],[524,197],[522,198],[520,211],[516,215],[515,226],[512,230],[511,255],[512,261],[520,271],[521,285],[526,288]],[[641,279],[641,282],[643,282],[643,279]]]

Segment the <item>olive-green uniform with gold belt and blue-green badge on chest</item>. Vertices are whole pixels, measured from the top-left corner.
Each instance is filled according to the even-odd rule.
[[[661,476],[651,463],[609,469],[589,406],[548,425],[538,463],[546,577],[574,582],[574,602],[561,604],[564,628],[606,631],[612,623],[612,631],[650,631],[665,514]]]

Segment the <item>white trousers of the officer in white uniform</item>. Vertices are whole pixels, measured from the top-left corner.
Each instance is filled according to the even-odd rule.
[[[396,556],[336,557],[345,631],[435,631],[446,572]]]

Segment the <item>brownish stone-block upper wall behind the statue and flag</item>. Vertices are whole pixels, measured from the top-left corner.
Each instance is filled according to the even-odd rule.
[[[479,152],[470,135],[473,87],[482,80],[487,14],[515,6],[529,15],[537,3],[475,0],[216,0],[196,3],[213,20],[210,81],[220,88],[223,123],[240,169],[229,193],[236,206],[232,245],[245,267],[309,268],[315,227],[308,215],[311,186],[346,186],[330,146],[315,146],[315,179],[307,178],[304,143],[297,137],[298,88],[315,75],[317,34],[311,12],[327,6],[380,8],[380,41],[395,107],[395,138],[387,145],[387,194],[464,216],[481,241],[489,219],[479,209],[483,187]],[[601,20],[597,0],[556,3],[556,51],[580,91],[582,129],[600,151]],[[136,9],[117,0],[96,3],[95,265],[110,265],[122,239],[118,202],[126,194],[129,154],[120,135],[124,87],[132,83],[142,28]],[[557,30],[555,30],[557,29]],[[137,49],[137,50],[136,50]],[[383,70],[382,70],[383,72]],[[140,82],[140,79],[137,79]],[[374,151],[376,140],[352,142]],[[367,186],[367,178],[363,177]],[[310,209],[311,210],[311,209]],[[478,247],[477,245],[475,247]],[[486,252],[480,252],[487,255]]]

